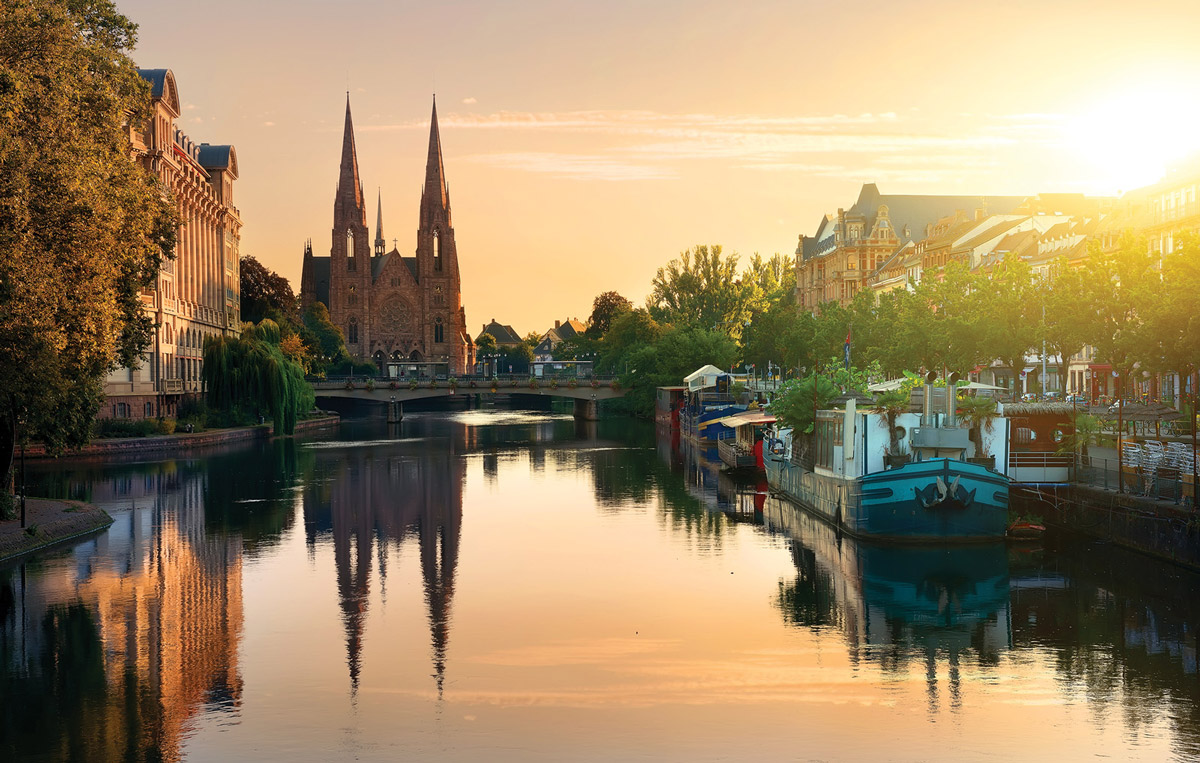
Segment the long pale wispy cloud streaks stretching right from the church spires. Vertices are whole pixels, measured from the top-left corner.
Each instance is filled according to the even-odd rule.
[[[469,157],[576,180],[664,180],[679,176],[682,162],[718,161],[762,172],[853,179],[876,173],[870,176],[943,181],[954,178],[955,169],[995,167],[998,154],[1026,142],[1048,140],[1061,119],[1057,114],[992,114],[959,128],[913,112],[778,116],[610,109],[444,114],[440,125],[443,130],[511,132],[510,145],[520,145],[522,134],[538,134],[544,145],[552,140],[551,133],[572,146],[588,140],[592,145],[578,152],[539,145],[533,151]],[[365,132],[425,128],[425,120],[361,127]]]

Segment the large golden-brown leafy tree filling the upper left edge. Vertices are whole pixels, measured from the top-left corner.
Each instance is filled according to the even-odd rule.
[[[149,84],[107,0],[0,13],[0,479],[18,439],[80,446],[106,374],[154,336],[139,292],[175,245],[157,178],[131,161]]]

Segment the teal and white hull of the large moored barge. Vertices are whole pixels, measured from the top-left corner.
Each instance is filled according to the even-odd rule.
[[[862,477],[766,458],[767,482],[851,535],[889,542],[1001,541],[1008,477],[950,458],[910,462]]]

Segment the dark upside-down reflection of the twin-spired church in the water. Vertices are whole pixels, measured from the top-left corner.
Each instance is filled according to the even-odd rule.
[[[462,535],[462,488],[467,432],[425,432],[419,421],[406,439],[378,446],[323,450],[316,477],[304,493],[310,549],[332,541],[337,596],[346,631],[350,691],[358,692],[371,576],[378,565],[386,585],[388,552],[415,539],[428,617],[431,659],[438,696],[446,672],[450,607]]]

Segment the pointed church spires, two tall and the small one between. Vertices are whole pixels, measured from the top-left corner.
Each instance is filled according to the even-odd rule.
[[[359,156],[354,145],[354,121],[350,118],[350,94],[346,94],[346,128],[342,134],[342,167],[337,180],[335,214],[352,212],[350,218],[366,228],[366,204],[362,200],[362,181],[359,178]],[[438,102],[433,101],[430,118],[430,152],[425,164],[425,187],[421,192],[421,229],[443,224],[450,227],[450,190],[442,166],[442,136],[438,132]],[[376,254],[386,247],[383,238],[383,192],[379,192],[376,218]]]

